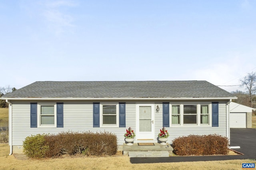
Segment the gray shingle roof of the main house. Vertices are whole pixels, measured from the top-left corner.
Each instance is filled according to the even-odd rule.
[[[227,98],[233,94],[207,81],[40,81],[4,98]]]

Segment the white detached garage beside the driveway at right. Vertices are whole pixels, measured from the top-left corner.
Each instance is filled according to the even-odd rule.
[[[252,107],[230,103],[230,127],[252,128]]]

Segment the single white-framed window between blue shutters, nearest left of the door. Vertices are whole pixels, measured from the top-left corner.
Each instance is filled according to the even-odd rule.
[[[119,127],[119,104],[100,103],[100,127]]]

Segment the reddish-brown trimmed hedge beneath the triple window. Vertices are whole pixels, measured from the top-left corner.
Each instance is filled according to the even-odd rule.
[[[228,154],[228,138],[220,135],[189,135],[178,137],[172,143],[177,155]]]

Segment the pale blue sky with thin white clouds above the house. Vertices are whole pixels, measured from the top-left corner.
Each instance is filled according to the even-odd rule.
[[[48,80],[237,85],[256,71],[256,1],[0,1],[0,59],[0,86],[16,88]]]

